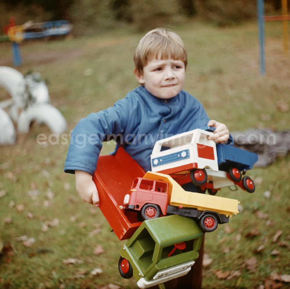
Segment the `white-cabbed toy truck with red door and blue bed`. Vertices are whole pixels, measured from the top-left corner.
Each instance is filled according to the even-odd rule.
[[[242,173],[253,168],[258,156],[209,140],[213,130],[204,127],[156,141],[151,170],[171,175],[179,184],[192,181],[203,189],[208,188],[212,195],[219,188],[231,185],[254,192],[253,180],[247,176],[242,179]],[[208,180],[212,183],[206,183]]]

